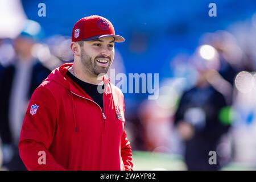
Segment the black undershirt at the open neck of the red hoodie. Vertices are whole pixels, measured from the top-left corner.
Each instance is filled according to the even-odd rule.
[[[79,80],[79,78],[72,75],[71,72],[67,72],[67,75],[79,85],[86,94],[92,97],[93,101],[96,102],[101,108],[103,108],[103,93],[98,92],[98,85],[89,84],[88,82],[84,82]],[[104,88],[104,85],[102,85]]]

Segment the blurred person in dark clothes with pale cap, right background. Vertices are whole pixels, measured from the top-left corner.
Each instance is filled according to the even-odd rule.
[[[220,119],[222,109],[227,106],[226,99],[210,84],[210,78],[216,74],[210,62],[196,59],[199,73],[196,85],[183,93],[175,113],[174,124],[185,143],[184,159],[188,170],[220,169],[218,152],[217,164],[212,165],[209,152],[217,151],[222,135],[229,129]]]

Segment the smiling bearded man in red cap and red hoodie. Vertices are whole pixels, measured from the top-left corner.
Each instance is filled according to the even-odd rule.
[[[19,141],[27,169],[133,170],[123,94],[101,76],[114,43],[124,41],[102,16],[76,22],[74,63],[56,68],[32,94]]]

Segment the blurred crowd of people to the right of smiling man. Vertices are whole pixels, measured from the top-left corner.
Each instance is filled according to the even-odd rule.
[[[205,33],[193,53],[170,61],[158,100],[139,109],[145,150],[180,154],[188,170],[256,169],[255,25],[253,17]]]

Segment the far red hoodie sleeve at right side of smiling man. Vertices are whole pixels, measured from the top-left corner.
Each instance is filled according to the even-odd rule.
[[[123,100],[123,112],[125,112],[125,102]],[[126,131],[123,130],[122,138],[121,138],[121,156],[123,160],[123,164],[125,166],[125,171],[133,171],[133,162],[132,154],[131,154],[131,144],[126,137]]]

